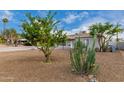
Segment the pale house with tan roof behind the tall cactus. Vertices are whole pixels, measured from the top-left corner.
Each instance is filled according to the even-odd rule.
[[[86,45],[89,45],[90,47],[92,46],[93,38],[86,31],[81,31],[81,32],[76,33],[74,35],[68,35],[68,40],[66,42],[66,46],[73,48],[74,42],[77,40],[78,37],[80,37],[81,41],[84,42]],[[96,48],[99,47],[97,40],[96,40],[95,47]]]

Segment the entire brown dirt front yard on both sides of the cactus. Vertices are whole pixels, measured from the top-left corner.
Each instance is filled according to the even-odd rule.
[[[124,81],[122,53],[97,53],[98,81]],[[0,52],[0,81],[87,81],[71,72],[69,50],[54,50],[49,64],[43,60],[38,50]]]

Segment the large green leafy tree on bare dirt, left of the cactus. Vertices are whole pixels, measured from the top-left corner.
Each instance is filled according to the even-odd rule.
[[[46,17],[33,17],[26,15],[28,20],[22,23],[23,36],[34,46],[37,46],[44,55],[45,62],[50,61],[50,55],[54,48],[66,41],[66,34],[58,29],[59,21],[54,19],[55,13],[49,12]]]

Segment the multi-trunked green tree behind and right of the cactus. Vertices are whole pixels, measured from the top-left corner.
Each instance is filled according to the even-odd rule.
[[[106,51],[108,44],[112,37],[117,33],[120,33],[121,28],[118,25],[113,25],[109,22],[107,23],[96,23],[89,27],[90,34],[94,35],[94,30],[96,30],[96,36],[98,39],[98,44],[100,47],[100,52]]]

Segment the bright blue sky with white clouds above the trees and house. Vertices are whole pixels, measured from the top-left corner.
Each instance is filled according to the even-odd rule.
[[[54,10],[55,11],[55,10]],[[16,28],[18,32],[22,31],[21,22],[25,20],[25,13],[44,17],[48,11],[42,10],[1,10],[0,11],[0,30],[3,29],[2,18],[7,17],[9,23],[7,28]],[[79,31],[88,31],[88,26],[98,22],[120,23],[124,27],[124,11],[119,10],[57,10],[55,19],[60,20],[59,27],[64,28],[68,34]]]

